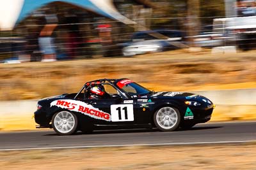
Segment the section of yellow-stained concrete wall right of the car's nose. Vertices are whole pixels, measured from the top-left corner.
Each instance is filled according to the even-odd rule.
[[[216,104],[213,121],[256,118],[256,89],[196,91]]]

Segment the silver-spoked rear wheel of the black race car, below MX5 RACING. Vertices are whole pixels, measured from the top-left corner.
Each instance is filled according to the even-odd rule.
[[[52,127],[57,134],[70,135],[77,130],[77,117],[69,111],[60,111],[52,117]]]

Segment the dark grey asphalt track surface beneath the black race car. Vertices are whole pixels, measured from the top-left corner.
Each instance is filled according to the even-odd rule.
[[[132,145],[202,145],[256,142],[256,122],[225,122],[195,125],[188,131],[159,132],[157,129],[77,132],[58,136],[52,131],[0,132],[0,151],[42,148],[86,148]]]

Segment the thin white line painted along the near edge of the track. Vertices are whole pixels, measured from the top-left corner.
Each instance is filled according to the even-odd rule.
[[[254,141],[209,141],[209,142],[188,142],[188,143],[145,143],[145,144],[128,144],[128,145],[95,145],[95,146],[65,146],[65,147],[48,147],[48,148],[17,148],[1,149],[0,151],[18,151],[18,150],[53,150],[53,149],[74,149],[74,148],[106,148],[106,147],[125,147],[125,146],[171,146],[171,145],[205,145],[205,144],[232,144],[232,143],[250,143]]]

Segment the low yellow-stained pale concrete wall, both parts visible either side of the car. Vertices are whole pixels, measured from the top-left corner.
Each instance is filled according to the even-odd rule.
[[[196,91],[216,104],[211,121],[256,118],[256,89]],[[0,101],[0,131],[33,130],[32,118],[38,100]]]

